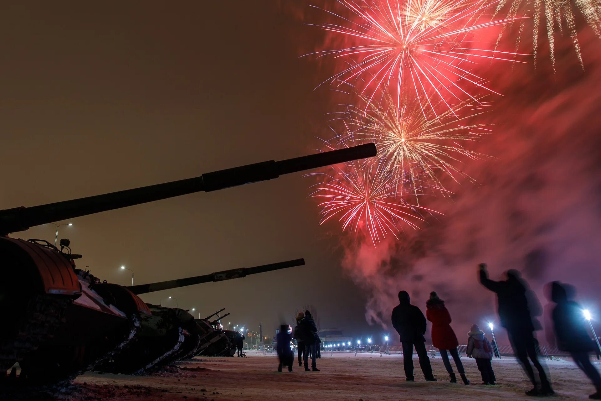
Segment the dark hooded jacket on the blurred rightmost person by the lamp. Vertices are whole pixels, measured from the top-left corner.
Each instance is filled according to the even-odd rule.
[[[558,348],[568,352],[593,350],[582,308],[567,298],[566,289],[558,281],[551,284],[551,300],[557,304],[552,316]]]

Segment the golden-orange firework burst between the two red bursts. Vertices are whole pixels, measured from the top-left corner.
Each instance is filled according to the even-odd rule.
[[[492,132],[489,127],[493,124],[471,122],[487,111],[490,102],[481,97],[477,102],[466,100],[456,107],[459,117],[446,110],[438,118],[431,118],[434,111],[426,109],[424,114],[424,106],[416,105],[417,102],[405,99],[402,106],[397,106],[388,92],[382,97],[383,103],[362,97],[367,103],[365,109],[347,105],[348,111],[341,113],[346,132],[339,142],[349,139],[376,142],[382,168],[398,183],[401,192],[407,188],[413,192],[417,204],[424,188],[448,194],[439,177],[441,173],[455,181],[460,175],[475,183],[455,164],[462,156],[469,159],[486,156],[464,145]]]

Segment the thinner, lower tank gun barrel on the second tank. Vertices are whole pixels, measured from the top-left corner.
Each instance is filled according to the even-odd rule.
[[[158,283],[150,284],[139,284],[137,286],[129,286],[127,287],[127,289],[129,289],[136,295],[140,295],[147,294],[149,292],[169,290],[178,287],[193,286],[194,284],[209,283],[210,281],[233,280],[234,278],[246,277],[247,275],[251,274],[293,268],[294,266],[302,265],[305,265],[305,259],[294,259],[287,260],[286,262],[271,263],[269,265],[254,266],[253,268],[231,269],[211,274],[204,274],[196,277],[180,278],[178,280],[159,281]],[[207,319],[209,319],[209,317],[207,317]]]

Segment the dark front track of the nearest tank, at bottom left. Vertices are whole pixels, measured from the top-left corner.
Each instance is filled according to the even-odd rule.
[[[0,344],[0,372],[4,375],[14,363],[22,361],[65,322],[64,313],[71,299],[50,294],[34,295],[27,305],[27,317],[11,341]]]

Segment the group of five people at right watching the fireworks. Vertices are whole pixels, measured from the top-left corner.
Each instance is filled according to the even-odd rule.
[[[548,374],[538,360],[536,350],[538,341],[534,333],[542,326],[532,317],[532,308],[540,309],[534,293],[529,290],[528,284],[522,279],[520,273],[513,269],[507,272],[507,280],[493,281],[488,277],[486,264],[481,263],[478,275],[480,283],[497,295],[501,325],[507,330],[514,355],[533,386],[531,390],[526,391],[526,395],[553,395],[554,391]],[[557,343],[560,350],[569,352],[576,365],[591,379],[597,391],[589,398],[601,399],[601,376],[591,364],[589,356],[590,352],[596,350],[596,343],[588,335],[582,308],[573,301],[575,291],[573,287],[558,281],[551,283],[550,287],[548,298],[554,304],[552,306],[553,329],[551,331],[554,335],[548,340],[551,343]],[[430,299],[426,302],[425,317],[418,307],[410,303],[409,293],[406,291],[398,293],[398,305],[392,310],[392,326],[398,332],[403,344],[403,355],[406,356],[403,358],[406,380],[415,380],[413,358],[409,357],[409,355],[413,355],[415,348],[424,378],[426,381],[436,381],[424,345],[426,342],[426,338],[424,338],[427,329],[426,319],[432,322],[432,344],[440,350],[450,382],[456,383],[457,378],[453,372],[449,354],[453,358],[463,384],[469,384],[457,352],[459,341],[450,325],[451,315],[445,307],[444,301],[438,297],[436,292],[430,293]],[[477,324],[472,325],[468,332],[466,353],[469,358],[475,359],[482,376],[482,383],[484,385],[496,384],[491,360],[493,354],[498,356],[498,349],[490,343]],[[534,369],[536,369],[538,377],[535,375]]]

